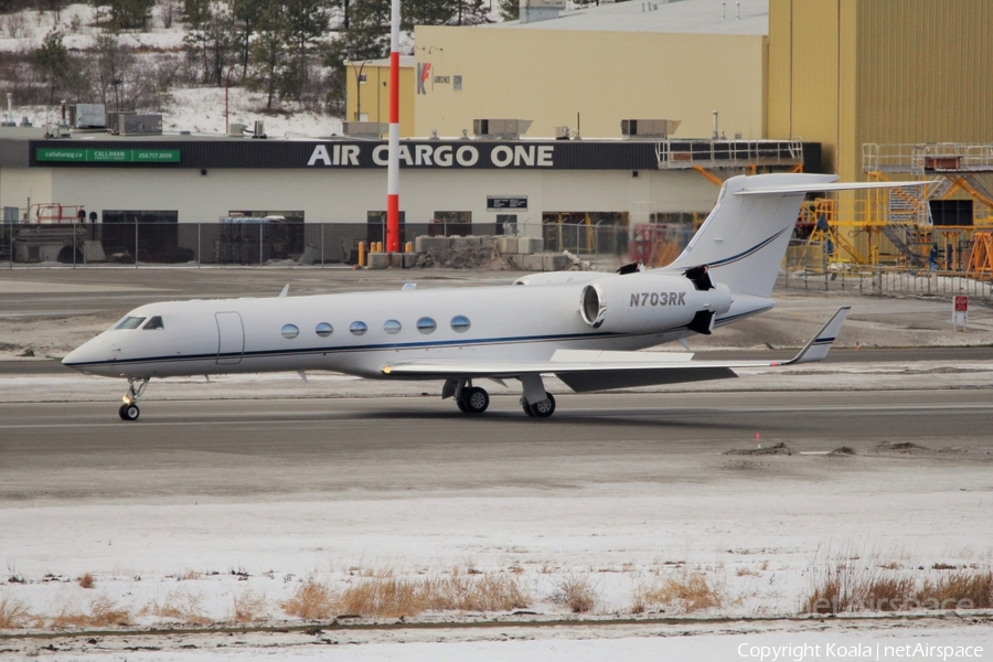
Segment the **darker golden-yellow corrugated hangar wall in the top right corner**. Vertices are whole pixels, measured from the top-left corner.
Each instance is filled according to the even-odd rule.
[[[864,179],[862,146],[993,141],[989,0],[770,0],[770,138],[822,143]]]

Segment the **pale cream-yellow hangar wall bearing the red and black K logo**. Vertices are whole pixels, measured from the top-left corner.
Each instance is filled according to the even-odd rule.
[[[676,137],[709,138],[714,110],[728,138],[766,132],[762,35],[418,25],[415,41],[418,66],[430,64],[414,95],[417,136],[510,118],[549,137],[575,129],[578,113],[583,136],[619,137],[621,119],[679,119]]]

